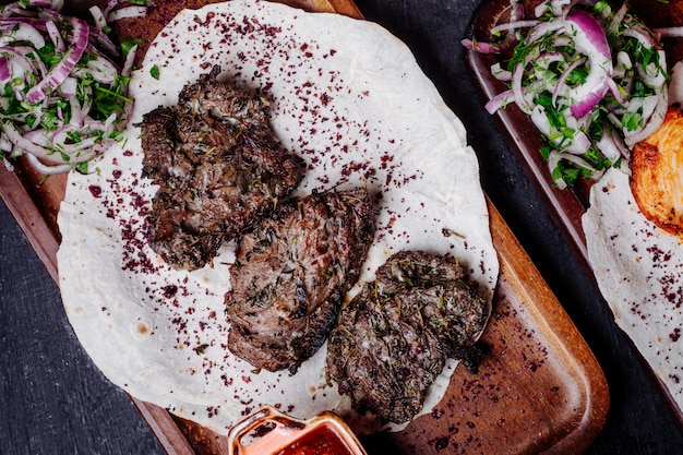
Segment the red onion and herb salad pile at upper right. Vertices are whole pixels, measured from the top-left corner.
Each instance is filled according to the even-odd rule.
[[[514,103],[529,116],[560,189],[609,167],[627,170],[631,147],[659,128],[669,106],[666,57],[652,32],[625,3],[604,0],[550,0],[531,19],[511,0],[510,11],[492,41],[463,40],[500,56],[491,71],[508,89],[487,110]]]

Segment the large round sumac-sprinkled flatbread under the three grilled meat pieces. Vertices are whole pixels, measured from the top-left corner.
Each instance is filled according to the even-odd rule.
[[[361,279],[399,250],[450,253],[491,301],[499,264],[477,158],[409,50],[369,22],[236,0],[185,10],[159,34],[130,84],[135,107],[125,143],[105,155],[97,175],[69,177],[58,253],[67,314],[111,382],[215,431],[263,404],[299,418],[324,409],[348,415],[349,400],[325,380],[325,347],[295,376],[255,372],[226,350],[230,246],[213,268],[188,273],[147,244],[145,212],[156,187],[141,177],[135,124],[175,104],[214,64],[221,77],[272,99],[274,130],[309,164],[298,195],[355,185],[382,192]],[[424,411],[454,368],[444,369]]]

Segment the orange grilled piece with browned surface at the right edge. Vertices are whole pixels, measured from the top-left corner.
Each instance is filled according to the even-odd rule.
[[[664,122],[633,148],[631,191],[647,219],[683,239],[683,113],[669,108]]]

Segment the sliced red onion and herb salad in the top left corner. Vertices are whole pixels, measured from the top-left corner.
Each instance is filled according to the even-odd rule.
[[[62,7],[61,0],[0,7],[0,159],[9,170],[25,156],[45,176],[87,172],[128,121],[136,44],[117,47],[108,23],[144,14],[144,3],[92,7],[92,25],[62,15]]]

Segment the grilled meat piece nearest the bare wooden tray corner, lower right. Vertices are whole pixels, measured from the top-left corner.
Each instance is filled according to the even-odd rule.
[[[475,343],[488,314],[455,261],[396,253],[342,309],[327,345],[329,378],[355,409],[408,421],[447,358],[480,360]]]

